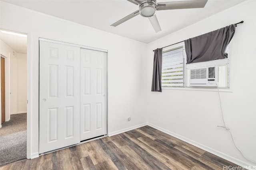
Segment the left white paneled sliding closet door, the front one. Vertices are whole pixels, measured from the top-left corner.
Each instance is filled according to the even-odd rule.
[[[80,142],[80,48],[40,41],[39,153]]]

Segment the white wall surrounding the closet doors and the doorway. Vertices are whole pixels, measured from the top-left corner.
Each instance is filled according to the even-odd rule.
[[[146,123],[146,44],[0,3],[0,27],[28,33],[28,158],[38,156],[39,37],[107,49],[108,133],[113,135]],[[127,121],[128,117],[132,120]]]

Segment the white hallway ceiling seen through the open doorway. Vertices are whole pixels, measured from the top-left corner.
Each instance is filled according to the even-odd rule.
[[[0,31],[0,39],[4,41],[9,47],[11,47],[16,53],[27,53],[27,37],[21,37],[18,35],[10,35],[2,33]]]

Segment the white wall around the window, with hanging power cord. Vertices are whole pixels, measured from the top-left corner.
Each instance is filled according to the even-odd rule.
[[[220,92],[220,97],[226,126],[230,128],[237,147],[247,158],[256,161],[255,9],[256,1],[247,1],[149,43],[147,47],[147,113],[150,125],[243,166],[256,164],[245,160],[235,149],[228,131],[217,127],[223,125],[217,92],[151,92],[152,50],[244,20],[236,27],[231,44],[232,92]]]

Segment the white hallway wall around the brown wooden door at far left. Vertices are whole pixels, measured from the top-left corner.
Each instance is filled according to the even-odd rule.
[[[13,53],[14,52],[14,53]],[[16,52],[0,39],[0,54],[5,58],[5,121],[10,120],[10,59]],[[1,99],[0,99],[1,100]]]

